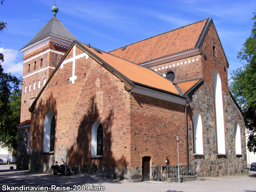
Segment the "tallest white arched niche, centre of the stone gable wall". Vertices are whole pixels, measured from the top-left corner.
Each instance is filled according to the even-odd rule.
[[[215,70],[213,73],[213,88],[214,88],[217,153],[226,154],[222,88],[221,88],[220,75],[218,74],[217,70]]]

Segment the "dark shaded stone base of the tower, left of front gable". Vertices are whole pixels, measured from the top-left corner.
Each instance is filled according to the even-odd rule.
[[[28,129],[18,129],[16,169],[28,170],[29,156],[27,155]]]

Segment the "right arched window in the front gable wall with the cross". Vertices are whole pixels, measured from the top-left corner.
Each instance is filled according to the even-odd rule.
[[[99,121],[92,126],[91,156],[103,155],[103,127]]]

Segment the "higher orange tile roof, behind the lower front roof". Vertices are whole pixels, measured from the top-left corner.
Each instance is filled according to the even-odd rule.
[[[125,50],[122,50],[123,47],[112,50],[110,53],[139,64],[189,50],[196,46],[196,42],[206,24],[206,20],[207,19],[130,44]]]

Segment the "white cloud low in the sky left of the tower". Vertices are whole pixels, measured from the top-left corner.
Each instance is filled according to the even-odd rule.
[[[4,54],[4,62],[1,63],[4,72],[11,73],[17,77],[22,76],[23,62],[18,61],[20,51],[14,49],[0,48],[0,53]]]

